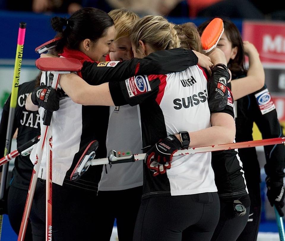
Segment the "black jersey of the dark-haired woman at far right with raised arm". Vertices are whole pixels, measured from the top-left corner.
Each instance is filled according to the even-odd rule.
[[[263,139],[284,136],[277,118],[275,105],[266,86],[238,99],[235,103],[237,142],[253,140],[252,127],[254,122],[257,124]],[[249,187],[252,181],[260,181],[260,167],[256,149],[255,147],[243,148],[239,149],[238,152],[243,163],[243,170]],[[285,168],[284,144],[265,146],[264,152],[266,158],[265,173],[267,176],[270,176],[272,179],[283,178]]]

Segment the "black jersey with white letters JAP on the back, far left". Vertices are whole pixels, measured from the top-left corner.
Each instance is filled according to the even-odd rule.
[[[25,144],[35,136],[40,135],[40,115],[38,111],[29,111],[25,108],[25,101],[29,93],[36,87],[36,81],[29,81],[19,85],[17,105],[15,109],[15,119],[13,124],[13,133],[18,128],[17,147]],[[4,147],[7,133],[7,123],[9,117],[11,96],[3,107],[3,113],[0,124],[0,155],[4,155]],[[29,189],[31,173],[34,168],[29,156],[21,156],[15,158],[15,167],[12,172],[11,186],[20,189]]]

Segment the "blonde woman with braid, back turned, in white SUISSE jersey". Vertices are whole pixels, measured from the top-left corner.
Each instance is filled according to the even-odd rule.
[[[119,63],[113,68],[89,63],[81,71],[85,81],[68,74],[61,76],[60,85],[82,105],[140,105],[143,150],[147,152],[143,200],[133,240],[210,240],[219,220],[211,155],[183,155],[173,161],[172,156],[179,148],[232,142],[232,107],[210,114],[208,76],[200,66],[190,66],[183,60],[186,50],[179,49],[174,25],[163,17],[143,17],[134,25],[130,38],[134,57],[142,58],[132,74]],[[159,62],[159,73],[145,75],[147,71],[140,71],[143,60],[163,53],[168,54]],[[214,55],[214,64],[220,65],[212,69],[211,80],[229,80],[224,54],[217,50]],[[168,72],[161,73],[162,69]],[[109,83],[92,86],[86,82],[88,78],[94,84]],[[74,89],[80,89],[80,94]]]

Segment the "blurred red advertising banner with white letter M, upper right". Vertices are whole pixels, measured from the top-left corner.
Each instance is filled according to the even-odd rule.
[[[285,22],[243,22],[243,40],[253,43],[261,61],[285,65]]]

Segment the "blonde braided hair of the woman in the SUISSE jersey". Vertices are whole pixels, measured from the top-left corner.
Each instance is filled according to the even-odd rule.
[[[174,24],[169,23],[161,16],[145,16],[137,21],[130,35],[131,42],[139,47],[139,40],[148,44],[154,51],[174,49],[180,47],[180,40],[174,29]]]

